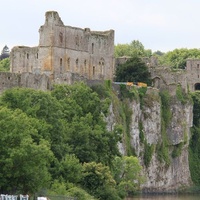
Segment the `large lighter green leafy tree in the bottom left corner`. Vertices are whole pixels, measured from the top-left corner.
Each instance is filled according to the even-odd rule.
[[[3,193],[33,194],[50,181],[53,159],[45,123],[22,111],[0,107],[0,190]]]

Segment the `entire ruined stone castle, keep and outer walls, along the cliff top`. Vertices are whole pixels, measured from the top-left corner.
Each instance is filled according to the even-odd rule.
[[[10,73],[0,73],[0,92],[10,87],[47,90],[52,83],[113,80],[115,67],[129,57],[114,58],[114,31],[91,31],[65,26],[55,11],[46,12],[39,29],[39,45],[16,46],[10,53]],[[144,59],[153,87],[176,92],[200,90],[200,59],[188,59],[183,70],[158,66],[155,58]]]

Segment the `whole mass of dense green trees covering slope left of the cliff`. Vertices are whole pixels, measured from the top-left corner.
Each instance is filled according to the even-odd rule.
[[[83,83],[49,92],[13,88],[0,96],[0,192],[125,197],[117,186],[133,178],[116,182],[113,175],[121,131],[107,130],[109,91],[96,89],[104,97]],[[141,166],[132,165],[140,173]]]

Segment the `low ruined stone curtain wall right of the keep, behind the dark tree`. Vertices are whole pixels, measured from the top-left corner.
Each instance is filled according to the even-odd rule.
[[[116,67],[125,63],[128,59],[130,57],[117,58]],[[155,57],[143,58],[143,61],[149,68],[153,87],[160,90],[167,89],[172,95],[176,93],[177,85],[181,85],[186,93],[200,90],[200,59],[188,59],[185,69],[178,70],[159,66]]]

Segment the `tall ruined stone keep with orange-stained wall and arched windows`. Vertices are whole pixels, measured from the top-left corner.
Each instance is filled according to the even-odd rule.
[[[46,74],[55,82],[67,82],[72,74],[90,80],[112,80],[114,31],[91,31],[65,26],[55,11],[46,12],[40,27],[39,46],[12,49],[10,70],[14,73]]]

